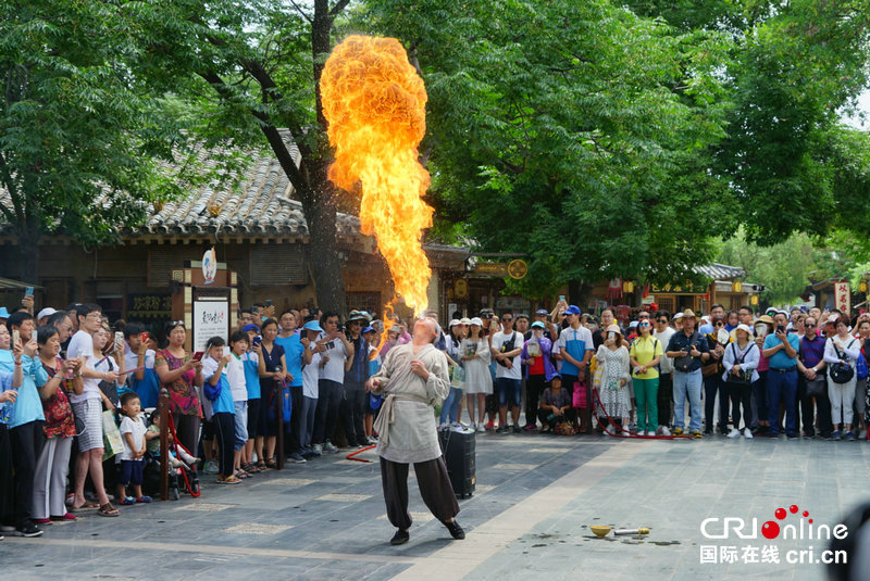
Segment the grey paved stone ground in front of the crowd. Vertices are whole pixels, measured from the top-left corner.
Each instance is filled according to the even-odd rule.
[[[238,487],[207,478],[197,500],[121,507],[114,519],[91,513],[40,539],[8,536],[0,569],[16,580],[821,579],[820,565],[785,563],[788,550],[818,554],[818,542],[710,541],[700,523],[756,517],[760,527],[796,504],[833,526],[870,496],[867,443],[478,435],[477,492],[460,501],[461,542],[427,513],[412,476],[411,541],[389,546],[377,464],[345,452]],[[651,534],[598,540],[591,525]],[[738,560],[701,563],[703,545],[734,546]],[[745,545],[775,545],[780,563],[743,563]]]

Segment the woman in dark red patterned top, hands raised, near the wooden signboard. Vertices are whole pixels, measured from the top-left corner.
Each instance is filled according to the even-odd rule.
[[[178,441],[195,454],[202,418],[197,394],[197,388],[202,387],[202,363],[194,361],[194,356],[184,349],[187,338],[184,321],[169,323],[166,338],[169,346],[154,355],[154,372],[170,392],[170,413]]]

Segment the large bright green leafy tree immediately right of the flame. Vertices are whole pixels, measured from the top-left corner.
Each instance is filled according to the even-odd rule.
[[[606,0],[370,7],[426,81],[438,215],[483,250],[527,254],[514,290],[670,281],[712,256],[703,232],[734,222],[707,170],[725,135],[724,35]]]

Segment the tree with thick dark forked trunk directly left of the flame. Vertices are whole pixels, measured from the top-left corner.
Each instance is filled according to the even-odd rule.
[[[326,178],[332,155],[320,77],[336,18],[349,0],[293,9],[265,0],[130,2],[144,23],[137,78],[187,106],[207,143],[263,147],[274,153],[302,204],[318,303],[345,311],[335,218],[343,201]],[[288,130],[291,143],[282,137]],[[299,159],[294,159],[293,146]]]

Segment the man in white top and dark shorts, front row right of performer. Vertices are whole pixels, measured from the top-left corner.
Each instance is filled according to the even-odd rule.
[[[520,403],[522,400],[523,334],[513,330],[513,314],[501,315],[501,330],[493,336],[493,357],[496,361],[496,389],[498,391],[498,429],[506,432],[508,427],[508,402],[513,419],[513,433],[520,433]]]

